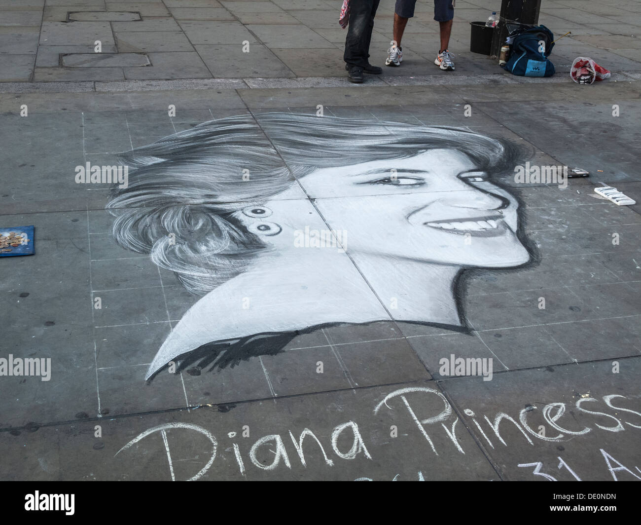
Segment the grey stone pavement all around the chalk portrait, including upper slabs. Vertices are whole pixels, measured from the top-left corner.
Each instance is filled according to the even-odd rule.
[[[374,63],[385,58],[392,4],[381,1]],[[424,3],[403,65],[358,86],[345,79],[344,31],[329,1],[0,8],[0,225],[35,225],[36,249],[0,260],[0,358],[51,358],[49,381],[0,377],[1,479],[546,479],[537,463],[567,481],[641,476],[640,205],[594,193],[605,182],[641,200],[641,3],[544,0],[540,22],[556,36],[572,31],[554,47],[551,79],[513,77],[469,53],[468,22],[498,8],[486,0],[457,2],[456,71],[440,71]],[[63,55],[93,53],[95,40],[127,55],[115,60],[146,55],[151,65],[62,65]],[[612,78],[571,82],[579,55]],[[394,318],[340,323],[237,366],[190,366],[146,383],[196,299],[149,255],[115,243],[105,209],[113,185],[78,184],[76,167],[117,164],[118,153],[206,121],[317,115],[319,106],[323,116],[510,139],[532,165],[590,177],[567,187],[501,177],[519,200],[533,261],[465,272],[456,301],[469,332]],[[301,187],[298,200],[322,209],[326,196]],[[453,354],[492,359],[492,380],[446,375],[440,361]],[[615,461],[626,468],[612,470]]]

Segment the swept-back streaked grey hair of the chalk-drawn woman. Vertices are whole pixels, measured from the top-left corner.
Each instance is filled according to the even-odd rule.
[[[435,148],[462,151],[489,175],[512,171],[524,153],[454,128],[290,113],[228,117],[121,154],[129,185],[115,189],[108,205],[117,216],[113,235],[204,295],[267,249],[234,212],[319,168],[385,159],[393,168]]]

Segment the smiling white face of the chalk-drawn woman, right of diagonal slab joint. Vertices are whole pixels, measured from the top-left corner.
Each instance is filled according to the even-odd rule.
[[[299,180],[331,229],[344,232],[348,253],[485,268],[529,260],[516,234],[517,200],[458,150],[322,168]],[[290,223],[302,228],[301,219]]]

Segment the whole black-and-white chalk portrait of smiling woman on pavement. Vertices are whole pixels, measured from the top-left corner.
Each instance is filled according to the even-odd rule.
[[[339,323],[468,329],[465,270],[531,259],[493,177],[513,142],[304,114],[227,117],[122,153],[113,236],[194,295],[151,361],[217,370]],[[133,171],[131,171],[133,169]]]

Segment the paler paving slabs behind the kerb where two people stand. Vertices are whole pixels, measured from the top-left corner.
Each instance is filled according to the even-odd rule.
[[[329,81],[344,76],[345,30],[338,26],[335,4],[328,0],[6,0],[0,4],[0,80],[321,77]],[[488,12],[497,8],[492,0],[456,4],[450,45],[457,55],[454,74],[502,73],[487,56],[469,51],[469,22],[485,21]],[[381,1],[372,35],[373,64],[382,64],[387,56],[393,12],[394,1]],[[572,31],[554,48],[558,71],[569,71],[579,51],[613,71],[638,71],[635,0],[616,7],[545,1],[539,18],[556,37]],[[419,2],[402,43],[403,67],[390,68],[382,80],[370,78],[370,82],[385,82],[387,76],[444,73],[433,65],[438,24],[430,3]]]

